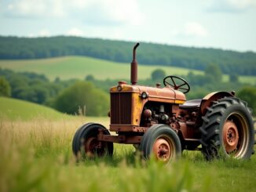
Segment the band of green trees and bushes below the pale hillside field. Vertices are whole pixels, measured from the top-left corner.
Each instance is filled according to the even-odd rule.
[[[157,69],[151,78],[139,80],[139,85],[155,86],[159,82],[163,87],[165,71]],[[187,100],[201,99],[210,92],[236,91],[236,95],[249,103],[249,107],[256,111],[256,88],[239,82],[239,76],[230,75],[229,82],[222,82],[222,73],[218,66],[209,65],[204,74],[181,76],[191,86],[186,94]],[[50,82],[43,74],[31,72],[13,72],[0,68],[0,96],[11,96],[20,100],[53,107],[68,114],[82,114],[90,116],[105,116],[110,102],[109,88],[117,85],[120,79],[98,80],[92,74],[84,80],[61,80],[56,78]],[[124,79],[125,80],[125,79]],[[129,80],[126,80],[129,83]]]

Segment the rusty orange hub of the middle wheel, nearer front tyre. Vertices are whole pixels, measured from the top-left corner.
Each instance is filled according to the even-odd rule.
[[[153,146],[153,153],[155,154],[155,158],[158,160],[168,161],[171,155],[170,144],[166,141],[166,139],[156,139]]]

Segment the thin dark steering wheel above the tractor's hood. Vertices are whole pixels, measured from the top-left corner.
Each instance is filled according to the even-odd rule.
[[[165,86],[170,85],[173,89],[179,90],[183,93],[187,93],[190,90],[190,86],[188,85],[188,82],[186,82],[185,79],[179,78],[174,75],[170,75],[164,78],[163,84]]]

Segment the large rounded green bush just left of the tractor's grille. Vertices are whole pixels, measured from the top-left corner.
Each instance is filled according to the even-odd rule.
[[[64,113],[78,113],[79,108],[90,116],[108,114],[108,95],[90,82],[76,82],[57,96],[54,107]]]

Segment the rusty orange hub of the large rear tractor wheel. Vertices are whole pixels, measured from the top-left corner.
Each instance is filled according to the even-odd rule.
[[[223,143],[227,153],[236,150],[239,141],[239,133],[236,124],[233,121],[225,121],[223,127]]]

